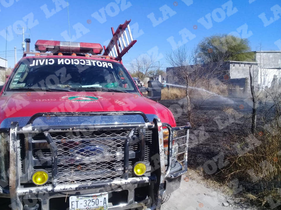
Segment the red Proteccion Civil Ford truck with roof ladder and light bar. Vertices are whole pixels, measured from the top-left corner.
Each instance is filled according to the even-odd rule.
[[[160,209],[179,188],[190,124],[157,102],[158,81],[138,88],[123,66],[129,22],[103,48],[38,40],[36,53],[25,40],[1,87],[1,209]]]

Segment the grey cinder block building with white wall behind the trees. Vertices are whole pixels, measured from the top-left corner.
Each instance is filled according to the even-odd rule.
[[[253,72],[254,85],[256,88],[270,87],[273,78],[281,80],[281,51],[255,51],[255,62],[226,61],[217,71],[217,78],[234,86],[244,88],[249,86],[249,69]],[[204,65],[201,65],[204,69]],[[213,65],[214,67],[216,64]],[[190,74],[193,65],[188,66]],[[212,67],[210,67],[212,69]],[[189,71],[189,70],[188,70]],[[183,76],[178,68],[166,69],[167,83],[184,84]]]

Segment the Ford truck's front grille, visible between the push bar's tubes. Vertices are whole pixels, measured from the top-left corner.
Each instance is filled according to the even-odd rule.
[[[112,180],[121,178],[124,168],[124,142],[130,130],[50,133],[57,147],[58,183]],[[145,131],[145,145],[141,148],[139,131],[129,145],[129,171],[140,161],[141,150],[149,168],[152,131]],[[45,169],[51,175],[52,155],[43,134],[32,136],[34,169]],[[48,146],[48,145],[47,145]],[[130,176],[130,174],[129,174]]]

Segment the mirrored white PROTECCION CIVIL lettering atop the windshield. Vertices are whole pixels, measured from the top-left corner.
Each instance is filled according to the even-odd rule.
[[[111,68],[113,69],[112,63],[105,62],[105,61],[97,61],[97,60],[86,60],[86,59],[68,59],[68,58],[59,58],[59,59],[37,59],[33,60],[32,64],[29,64],[30,67],[32,66],[42,66],[42,65],[87,65],[87,66],[98,66],[104,68]]]

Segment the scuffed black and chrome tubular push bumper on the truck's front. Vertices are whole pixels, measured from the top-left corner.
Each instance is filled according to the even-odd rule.
[[[37,117],[50,116],[71,116],[71,115],[141,115],[144,123],[130,124],[106,124],[106,125],[81,125],[81,126],[30,126]],[[168,153],[164,153],[163,128],[169,130],[168,138]],[[108,181],[92,181],[87,183],[75,184],[60,184],[57,182],[57,149],[49,132],[88,132],[101,131],[110,129],[131,129],[130,134],[124,143],[124,173],[122,178]],[[157,152],[151,158],[151,173],[150,176],[128,177],[128,143],[132,141],[132,135],[137,128],[152,129],[155,135],[153,141],[157,142]],[[123,192],[126,191],[127,201],[119,204],[111,204],[108,209],[137,209],[144,207],[148,209],[160,210],[163,194],[169,194],[176,190],[180,184],[180,176],[187,171],[187,148],[189,129],[188,123],[186,126],[171,127],[167,123],[162,123],[160,119],[155,118],[153,122],[149,122],[148,118],[142,112],[101,112],[101,113],[39,113],[30,118],[28,125],[18,127],[17,122],[11,123],[10,132],[10,161],[9,161],[9,190],[0,187],[0,197],[11,198],[11,209],[13,210],[50,210],[50,200],[64,197],[65,200],[70,195],[86,195],[99,192]],[[185,130],[185,142],[181,146],[185,147],[183,160],[181,164],[178,162],[172,167],[173,154],[173,131]],[[44,133],[47,143],[52,152],[52,184],[37,187],[23,187],[20,184],[20,142],[18,134],[21,133]],[[165,166],[165,157],[167,157],[167,165]],[[148,190],[147,196],[141,199],[136,199],[136,194],[140,190]],[[122,195],[122,194],[120,194]],[[25,202],[24,202],[25,201]],[[35,201],[35,204],[26,204],[26,201]],[[38,202],[40,206],[38,205]]]

